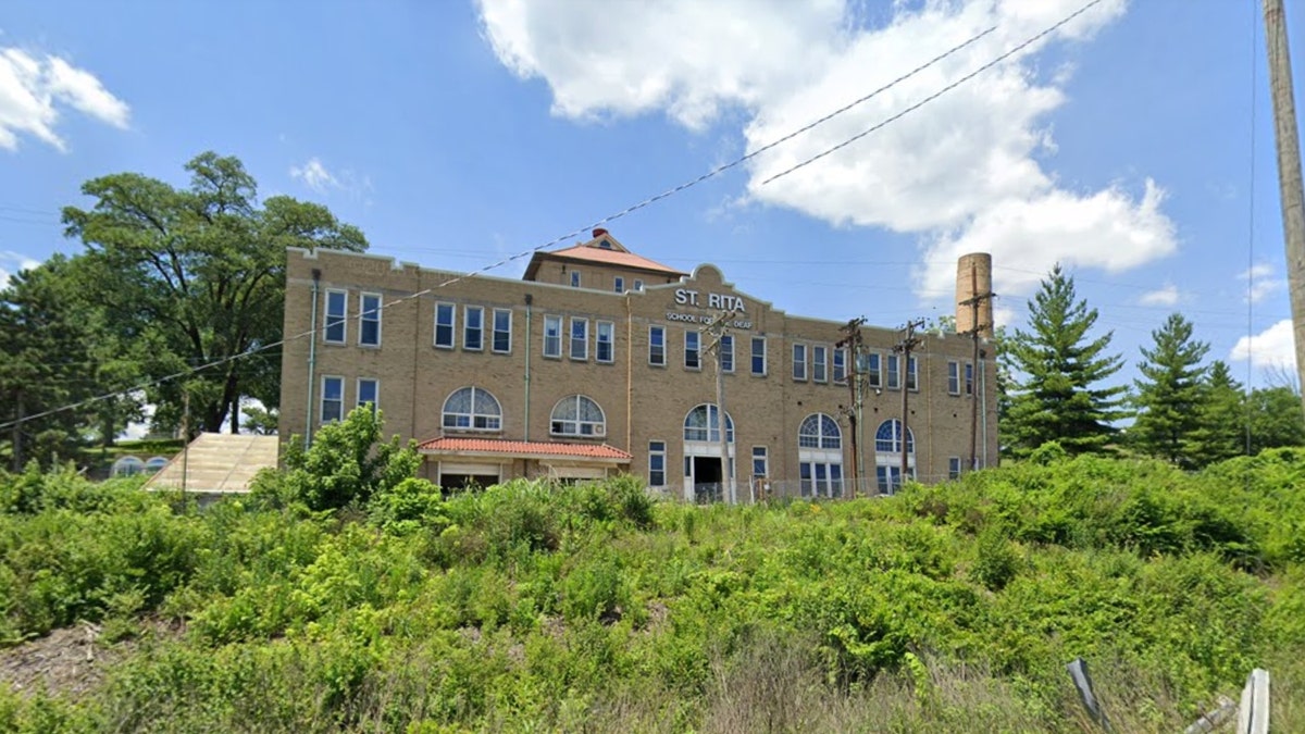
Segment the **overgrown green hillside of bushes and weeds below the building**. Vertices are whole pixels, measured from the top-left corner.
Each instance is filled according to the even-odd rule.
[[[91,622],[114,660],[0,686],[0,729],[1086,731],[1082,656],[1116,730],[1181,730],[1255,666],[1305,730],[1301,452],[775,507],[406,481],[311,512],[265,479],[196,512],[0,477],[0,639]]]

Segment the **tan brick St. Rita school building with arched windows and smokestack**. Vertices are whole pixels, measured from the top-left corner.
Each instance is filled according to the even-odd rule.
[[[857,410],[844,324],[779,311],[714,265],[681,273],[604,230],[536,253],[522,279],[372,255],[292,248],[287,257],[283,436],[311,440],[322,422],[373,402],[386,434],[420,441],[425,475],[445,487],[630,473],[698,500],[852,490]],[[967,259],[962,330],[990,279],[987,256]],[[990,302],[977,303],[980,325],[990,324]],[[971,436],[976,462],[996,461],[987,338],[975,367],[970,337],[921,332],[902,370],[897,329],[859,333],[861,379],[851,381],[861,385],[863,494],[900,479],[903,387],[908,473],[925,482],[958,473]],[[732,478],[720,461],[718,359]]]

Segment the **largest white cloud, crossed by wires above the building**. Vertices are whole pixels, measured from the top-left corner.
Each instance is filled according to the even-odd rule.
[[[1118,273],[1177,249],[1147,179],[1100,191],[1057,183],[1048,115],[1066,102],[1073,63],[1043,74],[1036,51],[1084,42],[1118,18],[1108,0],[900,121],[762,182],[900,112],[1069,14],[1079,0],[895,3],[878,27],[859,5],[787,0],[658,4],[479,0],[499,59],[553,91],[553,112],[591,120],[662,111],[701,129],[723,108],[745,112],[749,152],[880,88],[996,25],[997,30],[889,91],[750,162],[752,200],[835,226],[921,238],[920,293],[950,293],[957,255],[992,252],[994,289],[1031,291],[1053,263]],[[1049,78],[1043,78],[1049,76]],[[729,118],[724,118],[729,119]]]

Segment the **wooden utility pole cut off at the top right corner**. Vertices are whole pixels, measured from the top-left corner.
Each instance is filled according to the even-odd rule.
[[[1283,205],[1283,235],[1287,239],[1287,282],[1296,336],[1296,372],[1301,384],[1305,384],[1305,184],[1301,183],[1300,132],[1296,127],[1292,63],[1283,16],[1283,0],[1265,0],[1265,44],[1268,47],[1268,88],[1274,98],[1278,184]]]

